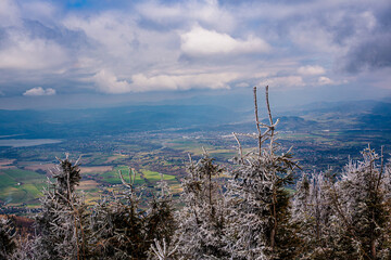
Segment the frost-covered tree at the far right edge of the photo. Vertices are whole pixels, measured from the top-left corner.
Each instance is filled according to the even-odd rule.
[[[330,256],[344,259],[390,259],[390,168],[371,148],[362,161],[345,166],[329,185],[335,226]],[[380,164],[379,164],[380,160]]]

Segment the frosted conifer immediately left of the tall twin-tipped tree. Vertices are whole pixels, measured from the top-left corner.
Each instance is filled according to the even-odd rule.
[[[177,214],[178,253],[184,259],[225,259],[224,230],[226,209],[217,177],[222,168],[204,153],[182,180],[180,196],[185,204]]]

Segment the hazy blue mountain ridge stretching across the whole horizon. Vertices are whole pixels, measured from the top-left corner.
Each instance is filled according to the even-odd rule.
[[[260,108],[262,109],[262,108]],[[262,110],[263,115],[264,110]],[[262,115],[261,113],[261,115]],[[391,103],[323,102],[276,113],[279,130],[391,129]],[[252,131],[253,112],[217,105],[149,105],[56,110],[0,110],[0,135],[75,138],[138,131]]]

